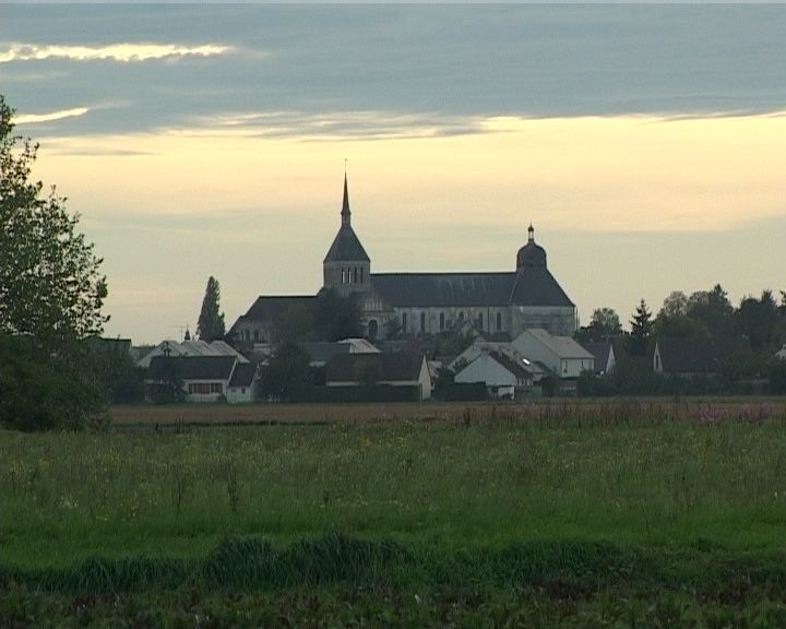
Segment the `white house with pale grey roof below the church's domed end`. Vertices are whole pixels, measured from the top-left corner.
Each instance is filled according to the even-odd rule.
[[[525,330],[511,344],[533,361],[541,363],[561,379],[579,378],[595,369],[595,358],[571,336],[552,336],[546,330]]]

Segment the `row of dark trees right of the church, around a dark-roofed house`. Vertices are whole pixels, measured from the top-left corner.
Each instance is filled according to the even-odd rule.
[[[582,376],[579,393],[583,395],[786,393],[786,360],[775,357],[786,344],[783,290],[778,298],[772,290],[763,290],[759,297],[745,297],[736,307],[719,284],[691,295],[676,290],[656,314],[641,300],[629,330],[622,329],[612,309],[598,308],[575,337],[610,342],[617,359],[609,373]],[[660,375],[653,368],[653,354],[657,341],[666,337],[686,344],[705,341],[707,346],[724,343],[736,349],[724,355],[713,372]]]

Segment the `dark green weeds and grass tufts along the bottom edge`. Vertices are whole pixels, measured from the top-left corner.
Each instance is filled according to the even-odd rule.
[[[189,571],[190,570],[190,571]],[[784,556],[529,544],[419,557],[329,535],[230,539],[205,560],[0,573],[3,627],[783,627]],[[69,578],[70,577],[70,583]]]

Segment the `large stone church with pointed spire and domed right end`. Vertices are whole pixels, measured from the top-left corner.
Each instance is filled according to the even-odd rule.
[[[402,335],[436,334],[471,322],[511,339],[529,328],[572,335],[576,308],[548,270],[546,250],[532,225],[515,271],[486,273],[372,273],[371,259],[352,227],[344,177],[341,227],[323,261],[323,288],[358,299],[370,340],[384,339],[394,322]],[[270,343],[276,318],[313,307],[315,296],[260,296],[230,334],[239,342]]]

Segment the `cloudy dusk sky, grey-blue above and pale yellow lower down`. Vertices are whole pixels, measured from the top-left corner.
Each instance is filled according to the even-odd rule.
[[[583,323],[786,290],[786,5],[0,4],[0,94],[104,258],[109,336],[372,272],[513,271]]]

